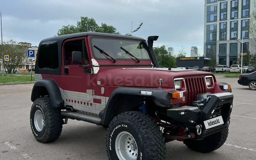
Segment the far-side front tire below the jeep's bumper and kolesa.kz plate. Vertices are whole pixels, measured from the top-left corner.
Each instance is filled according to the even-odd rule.
[[[214,133],[203,140],[185,140],[183,143],[190,149],[200,152],[209,153],[220,148],[227,140],[228,137],[228,125],[221,131]]]

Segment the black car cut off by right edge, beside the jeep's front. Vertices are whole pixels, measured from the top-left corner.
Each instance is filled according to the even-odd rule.
[[[239,76],[238,84],[249,86],[250,90],[256,90],[256,71],[249,74],[241,74]]]

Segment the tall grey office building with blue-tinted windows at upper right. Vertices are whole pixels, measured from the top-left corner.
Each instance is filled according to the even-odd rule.
[[[205,0],[204,7],[204,57],[216,57],[216,63],[237,64],[248,51],[255,54],[249,42],[248,21],[255,10],[255,0]]]

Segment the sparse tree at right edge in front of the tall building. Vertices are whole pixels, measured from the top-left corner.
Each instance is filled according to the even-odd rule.
[[[256,7],[256,3],[254,3],[254,6]],[[249,23],[248,24],[248,31],[249,31],[249,41],[250,44],[256,49],[256,11],[253,10],[253,13],[250,16]]]

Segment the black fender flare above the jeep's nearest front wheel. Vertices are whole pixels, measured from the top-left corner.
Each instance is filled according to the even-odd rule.
[[[146,91],[151,93],[149,95],[141,94],[141,91]],[[115,112],[115,106],[111,103],[114,103],[114,97],[117,94],[126,94],[126,95],[138,95],[144,97],[151,97],[153,101],[162,107],[168,107],[171,105],[171,99],[168,93],[162,89],[143,89],[143,88],[133,88],[133,87],[118,87],[110,95],[106,107],[99,113],[102,124],[109,124],[113,118]]]

